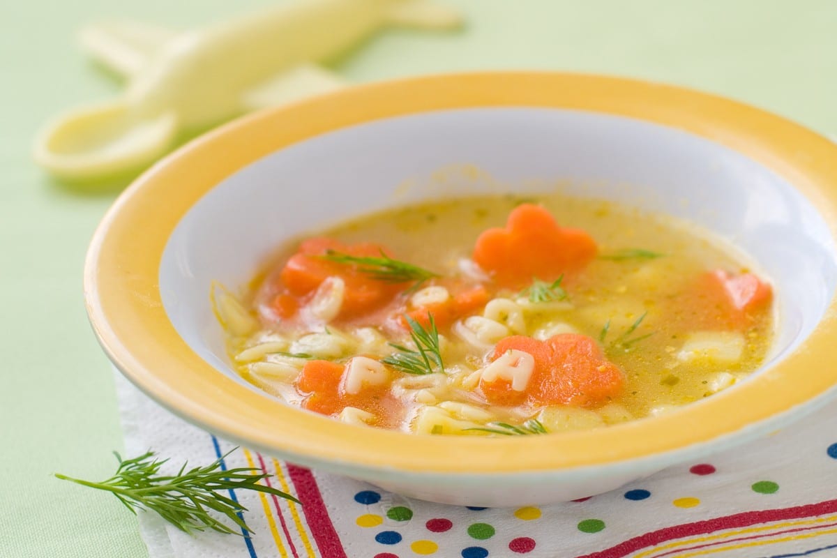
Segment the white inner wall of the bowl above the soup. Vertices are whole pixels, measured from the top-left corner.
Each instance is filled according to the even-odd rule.
[[[475,177],[474,168],[482,173]],[[737,151],[624,117],[492,108],[376,120],[244,167],[172,233],[160,266],[163,305],[194,351],[241,381],[210,306],[213,281],[237,289],[288,238],[368,212],[557,184],[571,195],[686,218],[749,253],[777,294],[773,360],[804,340],[834,293],[837,257],[823,218],[782,177]]]

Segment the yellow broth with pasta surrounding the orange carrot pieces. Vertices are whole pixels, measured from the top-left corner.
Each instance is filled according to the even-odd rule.
[[[573,331],[595,339],[608,361],[624,371],[619,396],[593,407],[492,406],[475,393],[473,385],[474,372],[486,363],[485,347],[469,346],[451,330],[443,330],[440,348],[446,374],[390,371],[387,397],[397,405],[382,402],[372,412],[374,417],[341,412],[335,413],[336,418],[437,434],[506,433],[507,428],[497,423],[520,426],[528,433],[523,425],[531,427],[532,422],[526,422],[531,419],[548,432],[600,427],[669,412],[709,397],[741,381],[764,361],[773,339],[773,306],[759,311],[746,327],[730,330],[725,320],[716,320],[717,309],[702,305],[695,289],[696,278],[709,270],[751,272],[751,260],[723,239],[669,216],[562,195],[474,197],[379,212],[311,236],[347,244],[382,243],[398,260],[437,274],[461,276],[463,262],[470,258],[480,233],[503,227],[509,212],[521,202],[545,207],[562,227],[587,231],[598,244],[598,255],[563,285],[564,300],[525,304],[525,293],[509,289],[496,289],[494,297],[521,303],[525,335],[545,338]],[[389,342],[403,345],[408,341],[407,332],[393,335],[392,330],[369,325],[289,327],[265,319],[260,307],[298,243],[280,247],[264,273],[239,297],[242,307],[236,309],[239,303],[229,294],[218,299],[229,333],[229,354],[241,376],[292,405],[300,405],[306,397],[295,381],[312,358],[345,363],[360,351],[380,360],[394,351]],[[230,316],[236,312],[239,318],[249,316],[252,323],[242,318],[244,325],[231,330]],[[480,310],[472,314],[481,315]],[[369,340],[370,329],[379,334],[374,340]],[[295,358],[300,338],[316,333],[339,338],[339,350],[326,349],[316,355],[306,346],[306,357]],[[391,415],[382,416],[387,412]]]

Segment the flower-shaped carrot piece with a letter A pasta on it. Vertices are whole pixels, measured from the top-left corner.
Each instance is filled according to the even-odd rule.
[[[588,335],[564,333],[545,341],[512,335],[497,343],[491,361],[515,351],[534,360],[526,387],[515,389],[512,381],[503,377],[485,381],[484,375],[480,391],[491,403],[594,407],[622,391],[624,373],[604,357],[596,340]]]

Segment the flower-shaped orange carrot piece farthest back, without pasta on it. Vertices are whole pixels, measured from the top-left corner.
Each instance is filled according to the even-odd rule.
[[[596,255],[596,243],[578,228],[559,227],[543,207],[516,207],[506,228],[489,228],[477,238],[473,259],[497,284],[520,289],[533,277],[554,281],[583,268]]]

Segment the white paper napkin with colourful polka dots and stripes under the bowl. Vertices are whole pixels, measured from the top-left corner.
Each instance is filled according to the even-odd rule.
[[[129,455],[211,463],[234,445],[190,426],[118,378]],[[182,534],[141,514],[151,558],[789,558],[837,556],[837,403],[727,453],[566,504],[485,509],[429,504],[239,449],[302,505],[231,493],[248,537]]]

